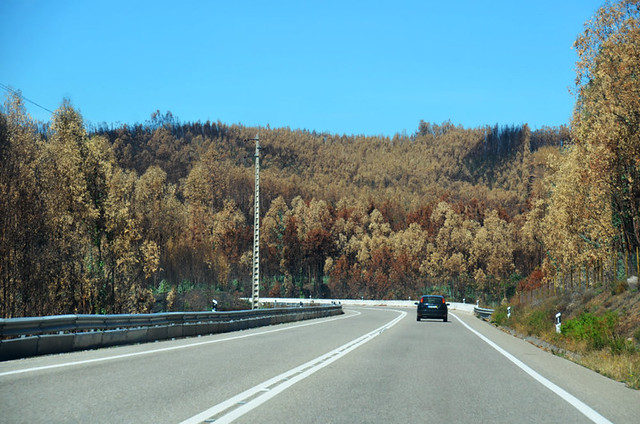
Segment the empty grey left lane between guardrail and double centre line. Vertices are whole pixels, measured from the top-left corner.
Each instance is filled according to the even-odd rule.
[[[3,362],[0,422],[180,422],[387,318],[348,311],[237,333]],[[65,366],[48,368],[59,365]]]

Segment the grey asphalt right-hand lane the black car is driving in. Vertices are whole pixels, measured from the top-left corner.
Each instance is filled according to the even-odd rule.
[[[237,422],[430,421],[591,422],[459,321],[413,314]]]

